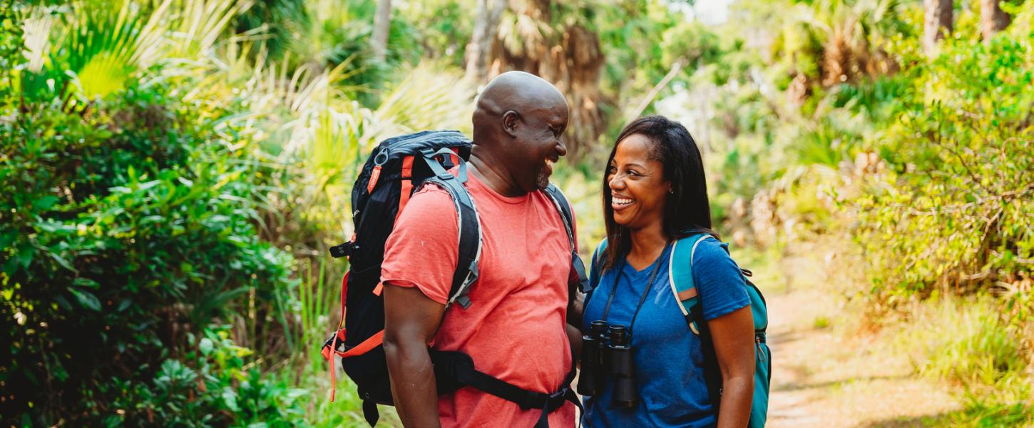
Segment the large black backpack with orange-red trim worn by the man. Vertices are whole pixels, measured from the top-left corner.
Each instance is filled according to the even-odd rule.
[[[478,211],[464,187],[467,178],[465,161],[470,148],[470,141],[458,131],[422,131],[381,143],[370,153],[352,190],[356,233],[348,242],[330,248],[334,257],[347,257],[349,267],[341,281],[341,319],[337,331],[324,343],[322,353],[330,362],[332,390],[334,356],[341,357],[341,366],[356,383],[363,400],[363,416],[371,426],[379,417],[376,404],[393,404],[382,346],[385,311],[381,265],[385,243],[409,196],[424,185],[442,187],[456,206],[459,257],[446,309],[453,304],[463,308],[472,304],[467,292],[478,279],[482,242]],[[456,165],[459,169],[454,176],[449,170]],[[573,249],[570,205],[553,185],[549,185],[545,193],[559,211]],[[587,284],[584,266],[575,251],[572,251],[572,269],[578,273],[580,280],[579,284],[572,284],[569,289],[569,297],[573,299],[575,285],[584,289]],[[524,409],[541,408],[543,414],[537,426],[545,426],[547,414],[561,406],[565,400],[578,404],[570,389],[575,371],[573,362],[565,387],[552,394],[544,394],[520,389],[475,370],[474,361],[465,354],[433,348],[428,351],[434,366],[438,394],[469,386],[516,402]]]

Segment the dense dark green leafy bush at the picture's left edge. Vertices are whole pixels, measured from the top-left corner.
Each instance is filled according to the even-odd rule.
[[[99,386],[150,377],[233,309],[262,337],[264,302],[291,284],[290,256],[257,238],[253,171],[229,135],[154,88],[88,114],[60,102],[0,122],[0,405],[39,424],[102,415]]]

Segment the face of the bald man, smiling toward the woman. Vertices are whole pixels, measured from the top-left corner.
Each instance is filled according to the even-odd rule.
[[[549,185],[553,164],[568,154],[564,131],[568,127],[567,102],[555,102],[528,111],[516,126],[513,161],[514,175],[527,191]]]

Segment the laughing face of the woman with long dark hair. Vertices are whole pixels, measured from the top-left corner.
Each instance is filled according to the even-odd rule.
[[[664,180],[664,165],[650,158],[652,147],[653,142],[646,136],[629,135],[617,142],[614,159],[607,167],[614,222],[632,231],[655,223],[663,227],[671,183]]]

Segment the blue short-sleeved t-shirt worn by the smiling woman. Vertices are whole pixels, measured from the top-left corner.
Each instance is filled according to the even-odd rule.
[[[697,246],[693,255],[693,281],[705,319],[717,318],[751,303],[739,267],[726,252],[726,245],[706,239]],[[616,292],[605,320],[609,325],[628,326],[655,266],[661,264],[632,326],[639,404],[633,409],[610,405],[613,377],[608,376],[602,394],[584,397],[582,423],[585,426],[709,427],[718,423],[704,383],[700,338],[690,331],[668,282],[670,254],[669,246],[653,265],[641,271],[636,271],[621,259],[602,275],[591,275],[594,291],[585,307],[582,331],[588,331],[590,322],[603,319],[604,307],[615,289],[615,276]],[[594,259],[594,272],[599,272],[598,267],[599,263]]]

